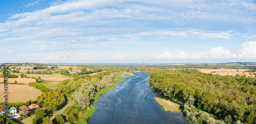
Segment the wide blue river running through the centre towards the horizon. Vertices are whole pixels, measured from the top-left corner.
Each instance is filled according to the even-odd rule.
[[[154,97],[158,95],[147,73],[136,72],[101,95],[88,123],[190,123],[178,112],[164,111]]]

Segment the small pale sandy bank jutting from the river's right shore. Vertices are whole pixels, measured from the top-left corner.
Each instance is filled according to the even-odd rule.
[[[179,111],[179,107],[180,105],[177,104],[177,103],[174,103],[172,101],[169,101],[169,100],[165,100],[165,99],[162,99],[162,98],[158,98],[158,97],[155,97],[156,101],[161,105],[163,106],[164,110],[165,111],[172,111],[172,112],[175,112],[175,111]]]

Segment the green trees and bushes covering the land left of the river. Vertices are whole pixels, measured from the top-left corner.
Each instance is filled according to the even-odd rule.
[[[8,66],[13,65],[8,64]],[[41,69],[41,66],[43,69],[48,69],[44,67],[44,65],[40,65],[40,67],[37,66],[33,69]],[[86,112],[90,109],[93,110],[93,104],[96,103],[97,98],[99,98],[100,94],[103,94],[104,92],[113,88],[116,85],[116,82],[120,81],[119,79],[121,77],[129,76],[134,73],[134,71],[131,70],[130,67],[120,66],[100,68],[94,68],[91,66],[76,66],[76,68],[81,69],[81,72],[73,73],[72,75],[68,73],[68,75],[70,74],[73,79],[66,79],[60,81],[57,84],[56,89],[50,89],[44,84],[39,84],[37,82],[30,82],[29,85],[40,89],[43,93],[38,96],[37,99],[34,101],[29,100],[26,103],[8,103],[8,106],[28,106],[35,103],[37,105],[45,107],[46,109],[32,111],[32,113],[30,114],[26,114],[26,112],[24,112],[24,115],[22,114],[21,117],[17,118],[17,120],[14,119],[14,121],[20,121],[35,114],[36,116],[32,119],[32,123],[77,123],[78,118],[81,115],[83,116],[83,114],[87,114]],[[58,67],[56,66],[51,69],[56,69],[55,73],[63,72],[62,70],[59,71]],[[87,71],[87,69],[90,70]],[[72,71],[72,69],[70,70]],[[102,70],[104,70],[105,72],[101,72]],[[31,72],[32,71],[30,71],[30,73]],[[88,75],[94,72],[101,73],[95,75]],[[65,96],[67,96],[72,101],[71,106],[69,106],[65,112],[56,115],[55,119],[50,121],[49,118],[52,116],[52,114],[55,113],[56,110],[63,106],[63,104],[65,103]],[[3,104],[4,103],[0,103],[0,105]],[[0,122],[16,123],[14,121],[6,118],[0,118]]]

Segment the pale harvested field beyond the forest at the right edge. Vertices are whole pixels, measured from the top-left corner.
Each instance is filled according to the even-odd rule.
[[[226,76],[226,75],[235,76],[237,74],[252,76],[252,77],[255,76],[255,75],[253,75],[252,72],[244,72],[244,71],[248,71],[248,69],[197,69],[197,70],[202,72],[202,73],[219,74],[219,75],[222,75],[222,76]],[[237,72],[237,70],[238,70],[238,72]]]

